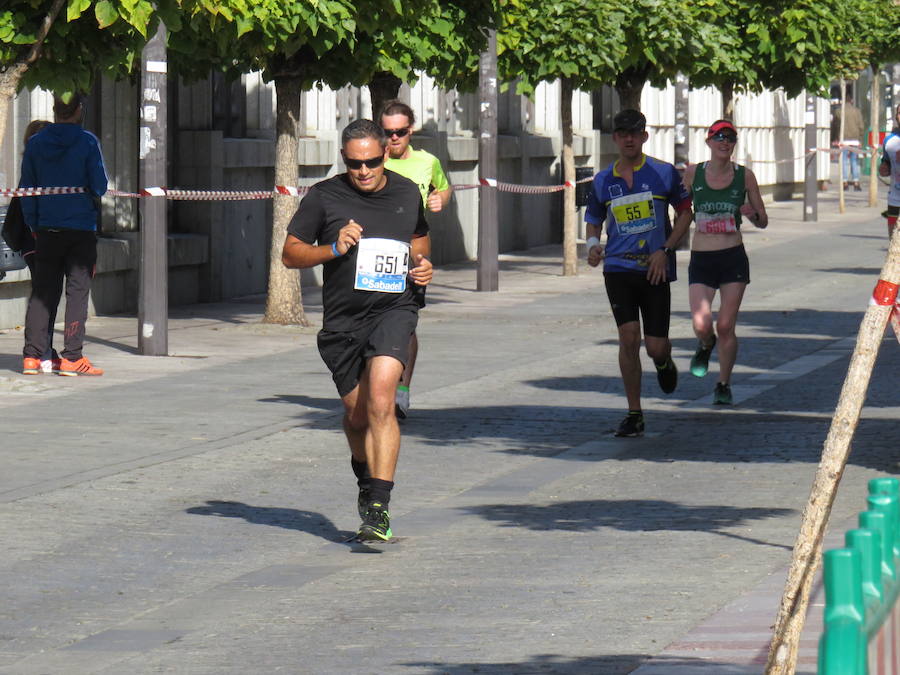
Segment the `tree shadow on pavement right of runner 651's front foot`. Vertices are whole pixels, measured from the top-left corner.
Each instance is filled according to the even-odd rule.
[[[462,507],[467,513],[497,523],[534,531],[593,532],[612,528],[623,532],[708,532],[790,550],[790,546],[744,537],[727,528],[741,527],[766,518],[781,518],[793,509],[694,506],[662,499],[584,499],[552,504],[483,504]]]

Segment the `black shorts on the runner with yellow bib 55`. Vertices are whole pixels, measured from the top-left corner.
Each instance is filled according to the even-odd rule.
[[[672,294],[669,282],[652,285],[644,272],[606,272],[606,295],[616,318],[616,325],[644,322],[644,335],[669,337],[669,315]]]

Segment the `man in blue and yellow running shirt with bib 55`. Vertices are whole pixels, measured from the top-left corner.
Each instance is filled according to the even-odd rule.
[[[596,176],[588,194],[588,264],[603,263],[606,294],[619,330],[619,369],[628,414],[616,436],[641,436],[641,321],[644,346],[656,366],[660,389],[670,394],[678,369],[669,341],[675,247],[691,225],[691,196],[675,167],[643,153],[647,120],[637,110],[613,118],[619,158]],[[669,220],[669,206],[676,212]],[[606,221],[606,247],[600,233]]]

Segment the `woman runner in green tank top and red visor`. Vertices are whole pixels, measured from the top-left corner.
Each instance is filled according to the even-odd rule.
[[[684,172],[697,221],[688,267],[691,316],[699,340],[691,359],[691,373],[697,377],[706,375],[718,340],[719,381],[713,391],[713,403],[719,405],[731,405],[733,400],[731,371],[738,348],[735,325],[750,283],[750,262],[741,237],[742,216],[759,228],[769,224],[756,176],[731,161],[737,138],[734,124],[728,120],[713,122],[706,131],[709,161],[692,164]],[[713,329],[712,302],[716,291],[719,312]]]

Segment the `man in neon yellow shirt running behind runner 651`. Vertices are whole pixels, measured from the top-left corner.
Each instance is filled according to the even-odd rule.
[[[381,127],[388,137],[387,169],[406,176],[422,193],[422,201],[428,211],[437,213],[450,201],[453,188],[441,168],[437,157],[425,150],[415,150],[409,141],[413,133],[416,116],[412,108],[402,101],[388,101],[381,112]],[[425,287],[416,286],[416,300],[419,307],[425,306]],[[409,411],[409,385],[419,351],[419,340],[413,333],[409,339],[409,360],[397,387],[397,417],[405,419]]]

